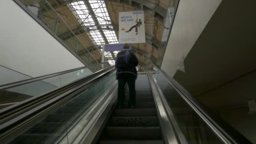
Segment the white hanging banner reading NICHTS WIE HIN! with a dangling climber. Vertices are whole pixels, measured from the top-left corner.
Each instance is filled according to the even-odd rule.
[[[119,43],[145,43],[143,11],[119,13]]]

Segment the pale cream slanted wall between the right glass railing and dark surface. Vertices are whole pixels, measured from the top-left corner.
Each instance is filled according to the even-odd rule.
[[[187,56],[221,0],[180,0],[161,69],[173,77],[181,58]]]

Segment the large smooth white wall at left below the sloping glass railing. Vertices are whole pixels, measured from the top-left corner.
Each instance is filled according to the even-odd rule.
[[[31,77],[84,66],[13,0],[0,9],[0,65]]]

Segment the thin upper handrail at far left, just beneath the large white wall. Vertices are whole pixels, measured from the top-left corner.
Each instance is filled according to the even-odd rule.
[[[49,74],[49,75],[33,77],[33,78],[29,78],[27,80],[21,80],[21,81],[17,81],[17,82],[13,82],[13,83],[8,83],[8,84],[0,85],[0,90],[13,88],[13,87],[16,87],[16,86],[19,86],[19,85],[24,85],[24,84],[27,84],[27,83],[33,83],[33,82],[36,82],[36,81],[39,81],[39,80],[44,80],[44,79],[47,79],[47,78],[56,77],[56,76],[59,76],[59,75],[64,75],[64,74],[67,74],[67,73],[70,73],[70,72],[75,72],[75,71],[80,70],[80,69],[85,69],[85,68],[88,68],[88,67],[92,67],[94,65],[107,64],[107,63],[108,62],[105,61],[105,62],[102,62],[102,63],[91,64],[91,65],[88,65],[88,66],[85,66],[85,67],[69,69],[69,70],[65,70],[65,71],[62,71],[62,72],[56,72],[56,73]]]

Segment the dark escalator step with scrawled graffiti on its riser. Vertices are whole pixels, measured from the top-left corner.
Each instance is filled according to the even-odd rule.
[[[159,126],[158,117],[112,117],[109,126]]]

